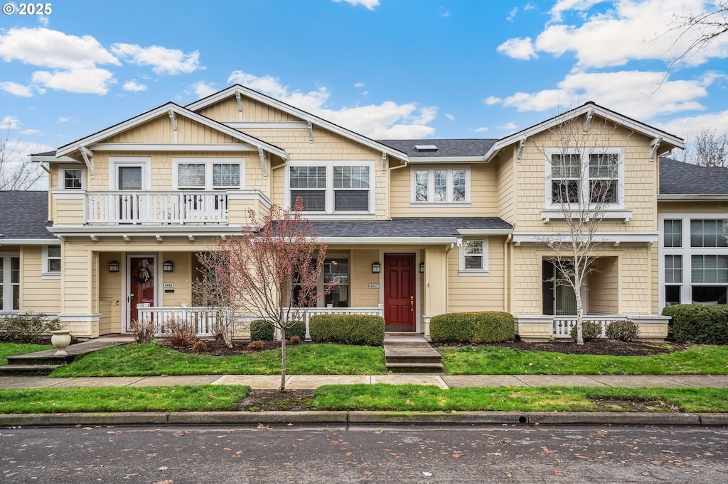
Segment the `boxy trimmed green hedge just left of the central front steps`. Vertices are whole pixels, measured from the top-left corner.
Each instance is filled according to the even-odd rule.
[[[384,318],[360,314],[321,314],[309,320],[314,343],[381,346],[384,343]]]

